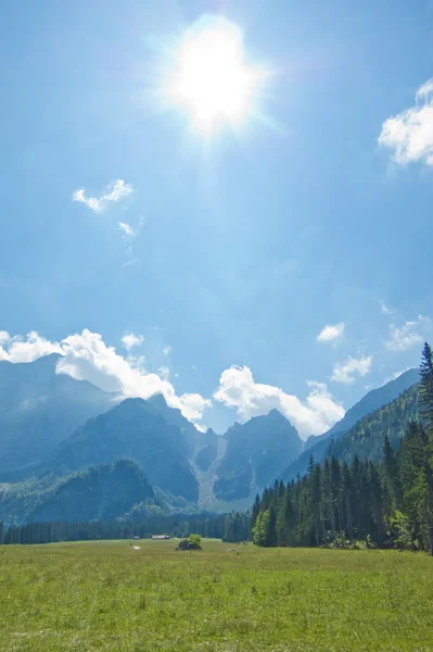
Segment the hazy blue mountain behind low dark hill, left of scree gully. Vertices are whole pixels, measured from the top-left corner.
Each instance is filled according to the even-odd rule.
[[[48,468],[77,471],[123,457],[137,462],[151,485],[196,501],[198,481],[184,437],[142,399],[127,399],[89,419],[55,449]]]

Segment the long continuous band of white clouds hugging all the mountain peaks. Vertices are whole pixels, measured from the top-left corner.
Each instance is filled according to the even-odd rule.
[[[100,334],[88,329],[60,341],[50,341],[36,331],[26,337],[0,331],[0,360],[33,362],[42,355],[59,353],[58,373],[68,374],[77,380],[89,380],[105,391],[118,392],[123,397],[148,399],[155,393],[163,393],[169,406],[179,409],[199,428],[204,428],[203,414],[212,408],[213,400],[234,409],[243,421],[277,408],[303,437],[323,432],[344,415],[343,406],[324,384],[308,383],[308,396],[302,401],[279,387],[256,383],[249,367],[232,366],[225,369],[213,400],[198,392],[178,394],[169,381],[169,368],[166,365],[156,372],[149,371],[143,356],[129,353],[142,342],[141,335],[125,334],[122,344],[128,353],[124,356],[115,347],[107,344]],[[162,355],[166,359],[169,351],[170,348],[166,347]]]

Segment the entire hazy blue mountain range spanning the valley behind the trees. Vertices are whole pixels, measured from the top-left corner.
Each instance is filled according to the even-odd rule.
[[[375,459],[417,415],[417,369],[368,392],[304,442],[277,410],[222,436],[200,431],[162,394],[124,399],[56,373],[58,355],[0,362],[0,521],[114,518],[137,505],[231,511],[303,475],[310,455]],[[149,507],[145,507],[149,509]],[[145,511],[145,510],[144,510]]]

